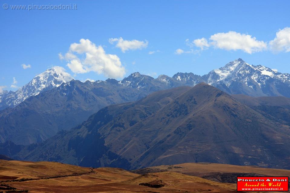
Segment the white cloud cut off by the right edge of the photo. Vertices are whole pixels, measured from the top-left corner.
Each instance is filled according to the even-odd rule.
[[[290,52],[290,27],[279,30],[269,46],[273,52]]]

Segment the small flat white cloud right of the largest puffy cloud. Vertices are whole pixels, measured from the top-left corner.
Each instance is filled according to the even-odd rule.
[[[122,37],[120,38],[110,38],[109,43],[114,44],[117,42],[116,47],[120,48],[122,52],[126,52],[127,50],[136,50],[143,49],[148,46],[148,41],[139,41],[139,40],[124,40]]]

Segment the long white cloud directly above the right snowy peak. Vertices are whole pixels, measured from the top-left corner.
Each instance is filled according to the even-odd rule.
[[[243,50],[246,53],[261,52],[267,48],[267,43],[256,40],[251,35],[229,31],[227,33],[216,33],[210,36],[211,44],[225,50]]]

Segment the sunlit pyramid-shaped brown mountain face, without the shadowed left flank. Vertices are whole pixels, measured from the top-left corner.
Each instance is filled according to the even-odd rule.
[[[288,163],[284,159],[289,159],[289,139],[283,135],[287,132],[202,83],[105,141],[113,152],[131,160],[133,168],[182,162],[277,163],[283,167]]]

